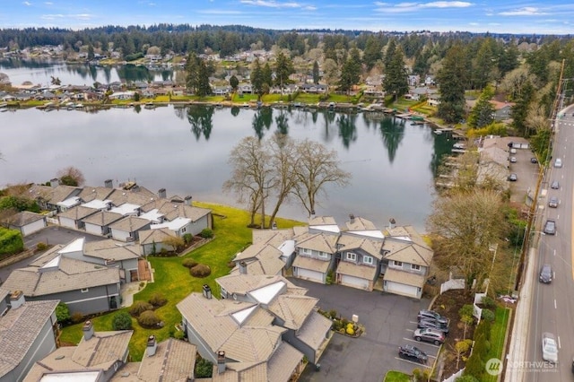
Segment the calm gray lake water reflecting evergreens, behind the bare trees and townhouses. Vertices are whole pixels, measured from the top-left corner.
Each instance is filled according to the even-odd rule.
[[[0,72],[12,77],[13,70],[24,69]],[[237,206],[234,195],[222,193],[222,184],[230,177],[229,152],[241,138],[265,139],[277,131],[309,138],[335,149],[342,168],[352,173],[350,186],[326,189],[317,214],[343,224],[354,213],[381,228],[393,217],[422,231],[434,173],[453,143],[432,134],[430,126],[395,117],[302,109],[26,109],[0,113],[0,129],[0,187],[46,182],[58,169],[74,166],[90,186],[109,178],[115,186],[135,180],[154,192],[165,187],[168,195]],[[307,219],[295,200],[283,204],[279,215]]]

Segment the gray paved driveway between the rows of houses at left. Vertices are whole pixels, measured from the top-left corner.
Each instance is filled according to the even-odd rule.
[[[97,241],[107,239],[101,236],[91,235],[80,230],[70,230],[59,226],[48,226],[43,230],[32,233],[24,238],[24,247],[34,248],[40,242],[52,245],[67,244],[74,239],[85,238],[86,241]],[[22,268],[29,265],[32,261],[36,260],[42,254],[37,254],[12,265],[0,267],[0,282],[12,273],[14,269]]]

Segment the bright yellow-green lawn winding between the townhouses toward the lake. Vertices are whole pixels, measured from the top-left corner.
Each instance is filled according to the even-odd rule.
[[[249,216],[246,211],[220,204],[194,203],[197,207],[210,208],[213,211],[213,232],[215,238],[203,247],[181,257],[148,257],[154,270],[154,282],[150,282],[142,291],[135,294],[134,300],[147,301],[153,293],[161,293],[168,303],[156,310],[165,323],[161,329],[143,329],[132,319],[134,335],[129,345],[132,360],[141,360],[145,343],[150,334],[155,334],[158,341],[170,337],[175,325],[181,321],[176,305],[192,291],[202,291],[206,283],[212,287],[213,295],[219,297],[215,279],[230,272],[228,263],[241,249],[251,244],[251,230],[248,229]],[[299,221],[277,219],[279,229],[302,225]],[[204,279],[192,277],[186,267],[181,265],[184,258],[192,257],[198,263],[209,265],[212,273]],[[127,308],[120,309],[127,310]],[[93,318],[96,331],[112,330],[112,319],[116,312]],[[61,340],[65,343],[78,343],[82,338],[83,324],[64,328]]]

